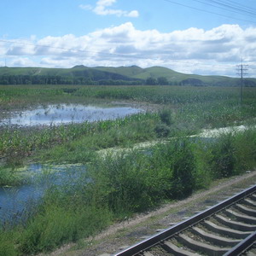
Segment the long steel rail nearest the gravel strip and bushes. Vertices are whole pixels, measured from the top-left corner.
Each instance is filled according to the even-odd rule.
[[[191,225],[195,225],[199,222],[201,222],[203,219],[208,218],[212,216],[212,214],[215,214],[221,210],[224,210],[226,207],[230,207],[230,205],[234,204],[237,201],[240,201],[247,195],[253,194],[253,192],[256,191],[256,185],[249,189],[245,189],[241,191],[241,193],[238,193],[229,199],[222,201],[218,203],[217,205],[208,208],[207,210],[203,212],[197,213],[195,216],[188,218],[184,220],[183,222],[180,222],[178,224],[173,225],[172,227],[161,231],[160,233],[150,236],[149,238],[138,242],[137,244],[126,248],[125,250],[119,252],[119,253],[113,253],[112,256],[132,256],[136,255],[137,253],[142,253],[143,251],[147,250],[150,247],[154,247],[154,245],[160,243],[160,241],[164,241],[167,238],[177,234],[178,232],[181,232],[182,230],[187,229]]]

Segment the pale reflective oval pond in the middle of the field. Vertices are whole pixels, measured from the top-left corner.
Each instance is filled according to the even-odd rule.
[[[124,118],[142,112],[142,109],[129,107],[102,108],[81,104],[58,104],[46,107],[9,113],[9,118],[0,120],[0,125],[65,125],[70,123],[94,122],[106,119]]]

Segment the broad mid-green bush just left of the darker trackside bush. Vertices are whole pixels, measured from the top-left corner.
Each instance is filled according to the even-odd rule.
[[[145,158],[139,152],[107,155],[90,166],[93,183],[89,193],[113,211],[116,218],[149,207]]]

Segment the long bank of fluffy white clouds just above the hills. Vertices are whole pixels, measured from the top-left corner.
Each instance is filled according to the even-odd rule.
[[[110,4],[113,0],[102,3]],[[256,66],[254,38],[255,27],[223,25],[208,31],[193,27],[162,33],[138,30],[127,22],[82,37],[32,37],[13,43],[0,39],[0,60],[3,63],[5,58],[11,58],[20,66],[31,60],[33,66],[41,67],[164,66],[183,73],[235,76],[241,55],[250,67]]]

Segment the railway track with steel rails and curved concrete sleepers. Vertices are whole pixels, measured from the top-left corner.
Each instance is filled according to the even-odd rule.
[[[113,256],[256,255],[256,185]]]

